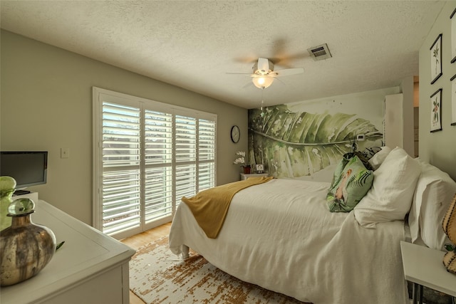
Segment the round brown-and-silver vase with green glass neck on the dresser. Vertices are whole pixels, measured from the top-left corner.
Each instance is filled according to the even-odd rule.
[[[46,226],[33,224],[31,199],[16,199],[8,207],[11,226],[0,234],[0,285],[36,276],[56,252],[56,236]]]

